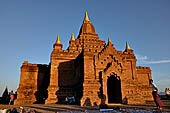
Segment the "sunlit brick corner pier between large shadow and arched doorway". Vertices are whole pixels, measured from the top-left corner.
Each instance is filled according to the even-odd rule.
[[[81,106],[100,105],[99,88],[100,83],[95,78],[93,54],[90,52],[83,53],[84,64],[84,82],[83,96],[80,100]]]

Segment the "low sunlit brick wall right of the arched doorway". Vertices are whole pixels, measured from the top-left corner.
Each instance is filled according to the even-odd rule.
[[[122,102],[124,103],[125,101],[127,104],[145,104],[146,101],[152,100],[152,91],[149,86],[150,69],[147,67],[136,67],[136,77],[128,78],[128,76],[132,77],[130,71],[126,71],[122,78]]]

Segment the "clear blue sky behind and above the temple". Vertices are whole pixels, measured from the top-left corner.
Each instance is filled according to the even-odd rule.
[[[119,51],[128,41],[159,91],[170,88],[170,0],[0,0],[0,96],[17,90],[24,61],[49,64],[57,35],[67,49],[85,11],[100,40]]]

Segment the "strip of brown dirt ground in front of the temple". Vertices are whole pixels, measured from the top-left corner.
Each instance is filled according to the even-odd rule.
[[[170,101],[163,102],[162,113],[170,113]],[[78,105],[64,105],[64,104],[32,104],[32,105],[0,105],[0,109],[17,108],[20,111],[23,107],[26,111],[36,110],[37,113],[158,113],[156,106],[152,104],[147,105],[124,105],[111,104],[108,105],[108,110],[100,110],[99,107],[81,107]]]

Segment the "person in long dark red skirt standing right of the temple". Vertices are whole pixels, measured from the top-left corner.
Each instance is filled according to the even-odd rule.
[[[155,104],[156,104],[156,106],[157,106],[157,109],[161,110],[163,104],[162,104],[161,100],[160,100],[159,97],[158,97],[158,88],[157,88],[157,86],[153,83],[153,80],[152,80],[152,79],[149,80],[149,83],[150,83],[151,88],[152,88],[152,95],[153,95],[153,98],[154,98],[154,102],[155,102]]]

